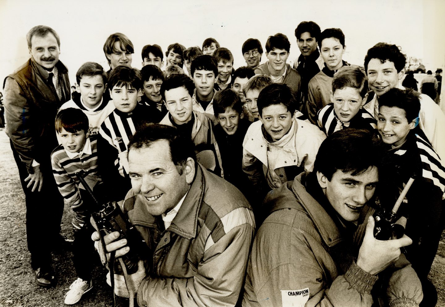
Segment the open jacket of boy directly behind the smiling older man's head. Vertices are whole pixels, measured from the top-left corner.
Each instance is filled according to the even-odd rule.
[[[173,126],[170,112],[159,124]],[[192,141],[195,144],[196,159],[207,169],[224,178],[223,162],[219,152],[218,143],[213,133],[214,121],[209,114],[193,111],[194,125],[192,128]]]

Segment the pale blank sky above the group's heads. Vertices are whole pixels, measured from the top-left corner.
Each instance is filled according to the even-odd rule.
[[[289,60],[300,54],[294,30],[313,20],[325,28],[341,28],[346,36],[343,59],[363,65],[378,42],[401,46],[407,56],[423,59],[433,72],[445,66],[445,1],[443,0],[0,0],[0,79],[29,58],[26,33],[38,24],[61,37],[60,60],[69,68],[71,84],[81,64],[94,61],[109,69],[102,51],[105,39],[122,32],[133,42],[132,66],[141,68],[141,50],[159,44],[163,52],[178,42],[186,48],[214,37],[245,64],[241,46],[247,38],[264,45],[277,32],[291,42]],[[165,58],[164,58],[165,60]],[[266,61],[263,54],[262,63]]]

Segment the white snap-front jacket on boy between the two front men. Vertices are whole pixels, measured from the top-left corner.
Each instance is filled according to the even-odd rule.
[[[267,185],[264,183],[267,180],[269,187],[273,189],[293,180],[293,177],[287,178],[286,171],[289,168],[301,167],[303,171],[312,171],[318,148],[326,139],[326,135],[317,126],[295,118],[289,132],[283,136],[288,138],[285,143],[280,142],[281,140],[268,142],[264,138],[262,126],[260,120],[252,123],[243,141],[243,171],[255,187],[263,188]],[[289,136],[289,133],[293,135]],[[271,171],[276,175],[271,176]],[[279,182],[275,179],[279,179]]]

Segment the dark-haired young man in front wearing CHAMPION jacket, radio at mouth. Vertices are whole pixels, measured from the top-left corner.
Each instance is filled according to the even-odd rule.
[[[321,144],[312,172],[267,195],[243,306],[371,306],[376,296],[418,306],[421,284],[400,251],[411,239],[373,236],[380,161],[370,132],[344,129]]]

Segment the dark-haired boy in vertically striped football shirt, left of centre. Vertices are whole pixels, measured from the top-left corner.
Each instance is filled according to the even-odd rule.
[[[129,139],[146,123],[158,123],[157,112],[138,103],[142,89],[141,72],[136,68],[117,66],[109,75],[109,93],[116,109],[104,120],[99,134],[113,146],[108,154],[113,156],[121,176],[128,179],[127,191],[131,188],[128,176],[127,144]]]

